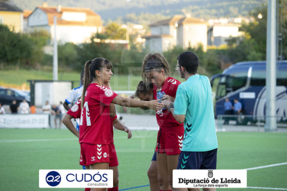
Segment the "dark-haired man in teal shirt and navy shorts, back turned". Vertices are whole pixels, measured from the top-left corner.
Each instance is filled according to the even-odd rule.
[[[186,51],[177,57],[180,77],[175,102],[164,100],[177,122],[184,122],[184,140],[178,159],[179,170],[215,170],[217,137],[209,78],[198,75],[198,57]],[[173,108],[174,107],[174,108]]]

